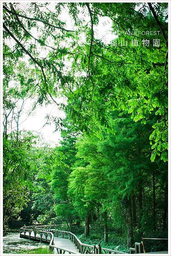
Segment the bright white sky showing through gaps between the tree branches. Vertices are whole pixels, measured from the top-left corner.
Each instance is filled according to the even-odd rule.
[[[28,6],[28,3],[20,3],[20,6],[22,9],[26,9]],[[54,12],[55,3],[50,3],[48,6],[48,9],[52,12]],[[90,16],[88,12],[84,13],[84,20],[85,23],[90,23]],[[70,16],[67,13],[67,9],[64,9],[62,14],[60,15],[59,19],[66,22],[66,29],[74,29],[74,23],[73,20],[71,20]],[[106,25],[105,25],[106,24]],[[41,25],[42,26],[42,25]],[[113,39],[115,39],[117,36],[114,35],[114,33],[111,32],[112,27],[112,20],[108,17],[99,17],[99,23],[98,26],[94,26],[94,32],[95,32],[95,38],[101,39],[105,44],[109,44]],[[33,29],[31,31],[31,34],[34,37],[37,37],[38,31],[36,29]],[[84,34],[81,35],[81,40],[84,41]],[[10,42],[8,41],[8,44],[11,46],[14,44],[10,39]],[[52,45],[53,43],[50,42]],[[45,51],[40,52],[40,57],[44,57],[48,54],[48,49],[45,49]],[[25,61],[28,61],[28,56],[25,57]],[[57,102],[64,102],[63,98],[56,99]],[[66,102],[66,100],[65,100]],[[20,104],[19,104],[20,105]],[[28,131],[33,131],[34,134],[41,134],[42,143],[48,143],[50,146],[54,147],[55,145],[59,144],[59,141],[61,140],[61,134],[60,131],[55,131],[55,125],[51,123],[50,125],[45,125],[46,119],[45,116],[56,116],[56,117],[62,117],[64,118],[65,114],[63,111],[59,110],[59,108],[53,104],[49,105],[42,105],[37,106],[36,110],[27,118],[29,111],[31,110],[33,106],[32,100],[27,100],[24,105],[24,109],[22,111],[22,115],[20,118],[20,126],[19,129],[25,129]],[[25,120],[26,119],[26,120]],[[44,126],[45,125],[45,126]],[[44,126],[44,127],[43,127]]]

